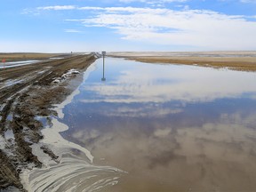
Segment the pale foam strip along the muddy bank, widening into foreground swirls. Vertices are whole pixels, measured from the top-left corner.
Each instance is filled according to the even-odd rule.
[[[84,81],[93,70],[95,63],[84,72]],[[65,140],[60,135],[60,132],[68,130],[67,124],[60,123],[64,117],[62,110],[79,94],[79,88],[80,85],[66,100],[55,106],[58,118],[52,117],[52,124],[42,130],[44,139],[31,147],[33,153],[43,163],[43,167],[36,168],[34,164],[29,164],[30,168],[22,170],[20,180],[28,191],[99,191],[100,188],[118,182],[121,170],[92,164],[93,156],[89,150]],[[52,160],[43,153],[40,149],[42,146],[51,148],[52,152],[59,156],[58,159]]]

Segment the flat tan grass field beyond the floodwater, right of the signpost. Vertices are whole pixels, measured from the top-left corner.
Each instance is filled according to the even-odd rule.
[[[141,62],[256,71],[256,52],[111,52],[108,55]]]

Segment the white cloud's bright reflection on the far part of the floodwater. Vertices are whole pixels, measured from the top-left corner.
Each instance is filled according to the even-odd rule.
[[[100,66],[101,60],[97,62]],[[113,64],[115,62],[120,63],[119,60],[109,60],[109,63]],[[124,64],[125,60],[122,63]],[[125,64],[128,66],[130,63],[127,61]],[[113,66],[112,68],[115,68],[117,64]],[[164,103],[175,100],[184,103],[206,102],[221,98],[239,98],[244,92],[255,92],[256,90],[256,84],[250,83],[255,79],[255,75],[239,71],[212,68],[204,68],[203,70],[196,67],[188,69],[188,66],[184,68],[170,66],[170,68],[165,68],[163,71],[163,68],[158,66],[148,68],[147,65],[138,64],[136,68],[124,69],[120,74],[122,76],[116,77],[111,82],[109,80],[108,84],[104,84],[104,87],[98,83],[84,86],[86,92],[93,92],[93,94],[92,97],[84,98],[83,101],[86,103]],[[161,84],[157,83],[159,74],[161,74]],[[175,109],[175,111],[172,111],[174,113],[179,112],[180,108],[172,109]],[[148,112],[149,110],[144,108],[140,110],[140,113],[143,114],[145,111]],[[129,111],[126,110],[126,112]],[[132,113],[132,111],[130,112]],[[171,113],[170,111],[161,111],[161,114],[165,112]],[[118,111],[118,113],[122,113],[122,111]]]

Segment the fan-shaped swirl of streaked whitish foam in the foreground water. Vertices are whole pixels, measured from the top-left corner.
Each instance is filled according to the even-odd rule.
[[[115,185],[122,171],[109,166],[88,164],[77,156],[63,157],[60,164],[51,164],[41,169],[34,168],[22,173],[27,180],[28,191],[100,191]]]

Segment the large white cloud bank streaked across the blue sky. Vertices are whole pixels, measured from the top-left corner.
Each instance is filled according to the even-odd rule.
[[[201,10],[82,7],[98,11],[80,20],[86,27],[112,28],[127,40],[205,49],[256,49],[256,22],[241,15]]]

